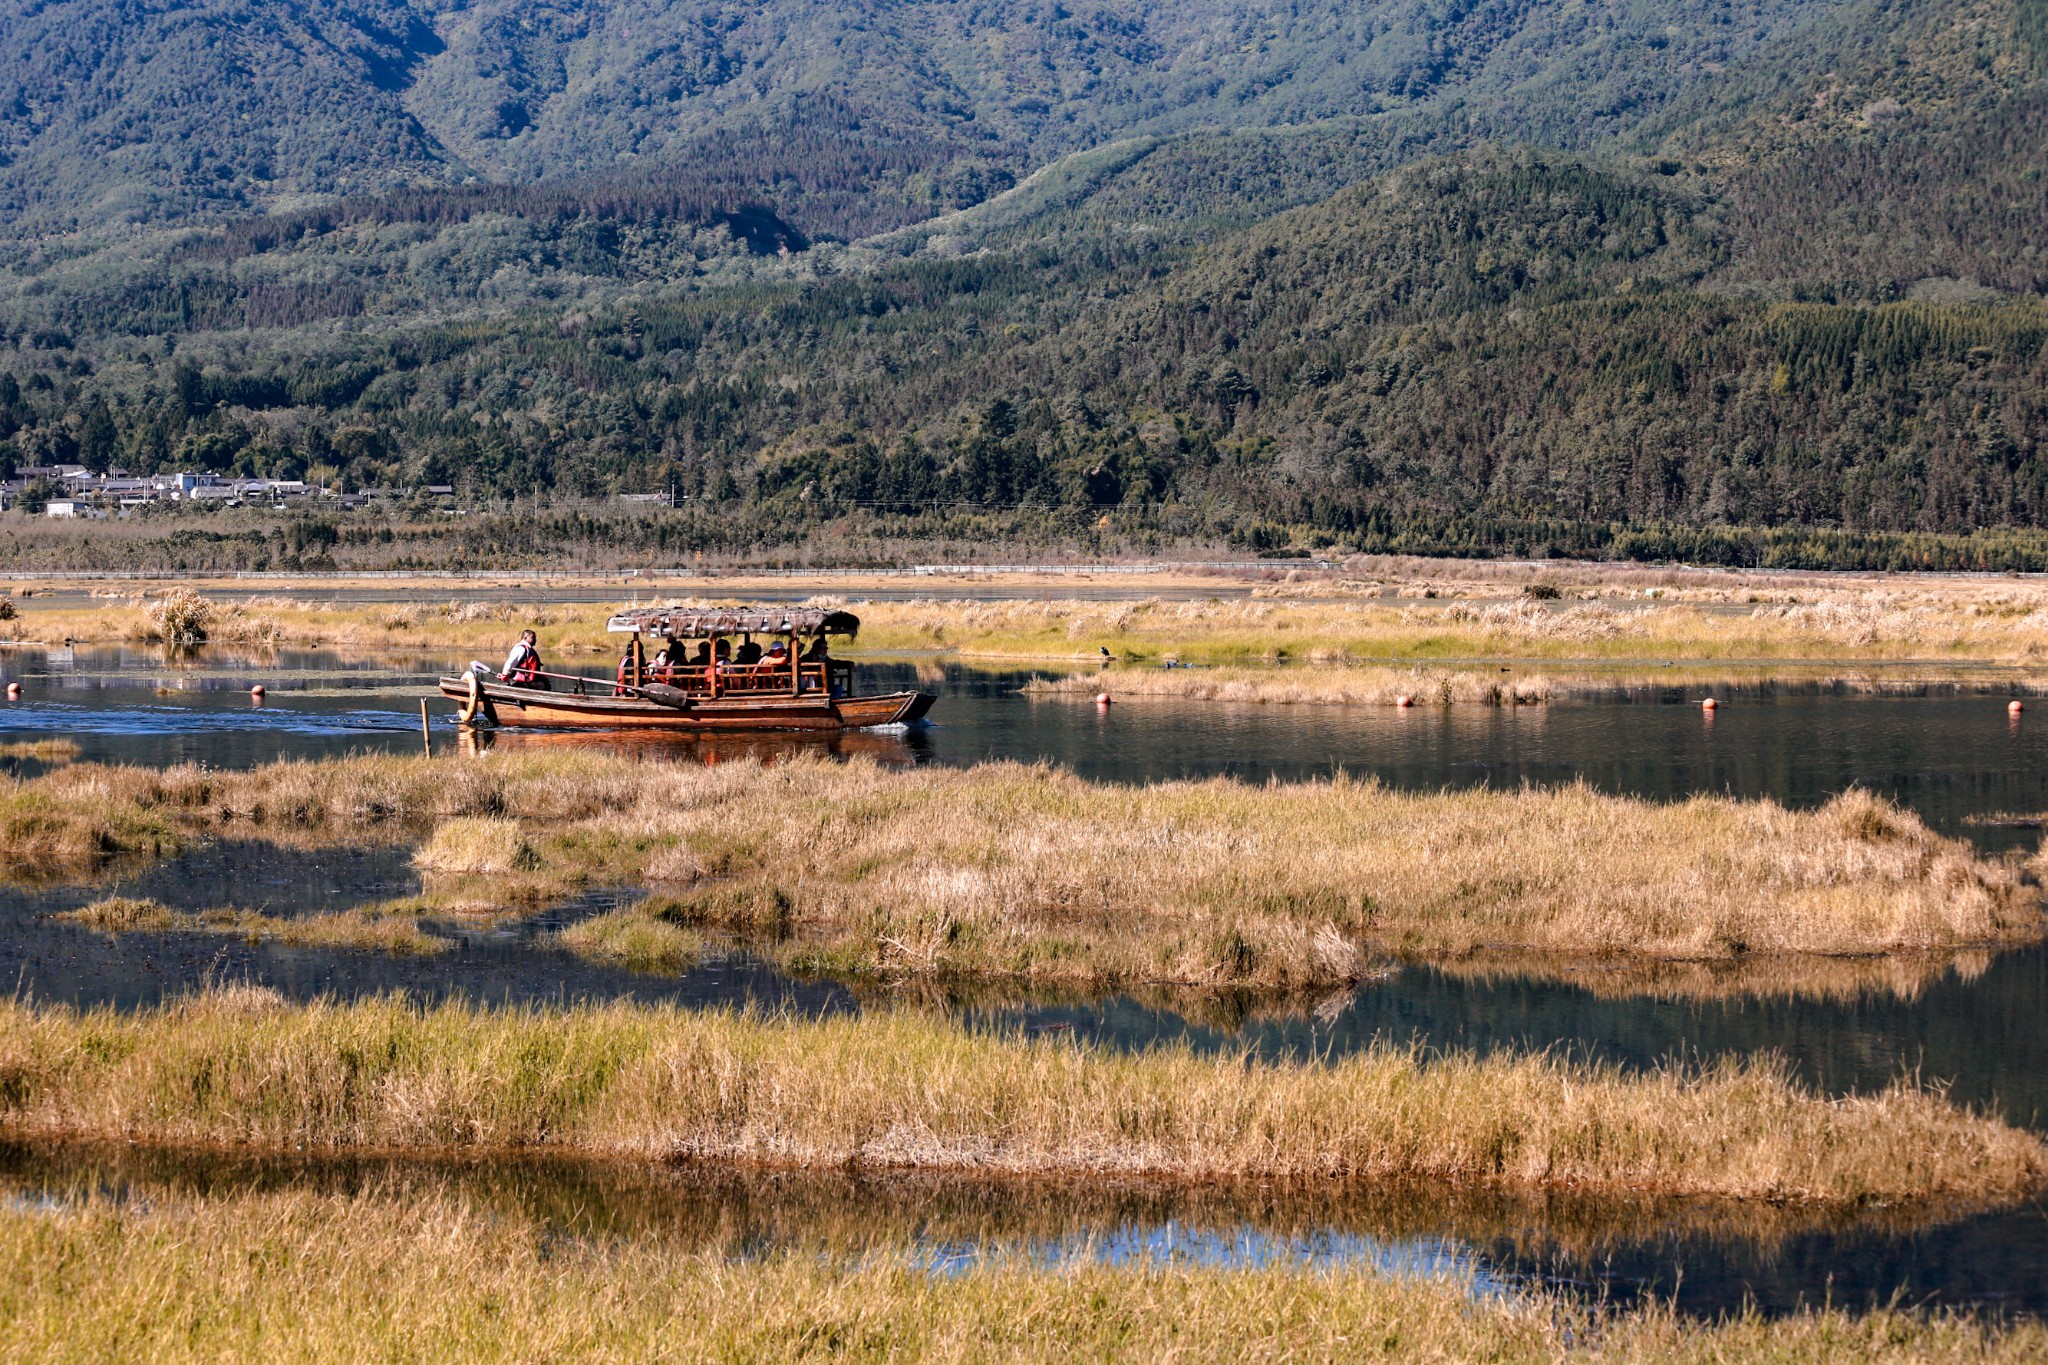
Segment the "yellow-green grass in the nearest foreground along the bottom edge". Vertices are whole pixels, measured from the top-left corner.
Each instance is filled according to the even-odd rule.
[[[2021,1361],[2038,1324],[1839,1310],[1694,1324],[1468,1281],[1167,1265],[936,1275],[565,1238],[455,1197],[188,1195],[0,1207],[8,1359],[449,1361]]]

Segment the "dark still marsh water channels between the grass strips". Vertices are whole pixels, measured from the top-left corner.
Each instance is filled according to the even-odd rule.
[[[0,745],[68,739],[88,761],[252,765],[279,757],[418,751],[418,702],[461,659],[360,663],[324,653],[246,659],[201,651],[0,651],[23,700],[0,704]],[[596,671],[596,669],[592,669]],[[862,665],[864,686],[940,694],[934,724],[836,739],[758,737],[635,743],[647,761],[705,763],[797,751],[868,755],[885,763],[1053,761],[1100,782],[1233,776],[1376,776],[1399,788],[1518,786],[1585,780],[1655,800],[1698,792],[1772,796],[1804,806],[1860,784],[1919,810],[1987,853],[2032,851],[2048,812],[2048,704],[2011,720],[1995,684],[1954,688],[1907,679],[1896,694],[1843,692],[1819,681],[1716,686],[1716,716],[1700,688],[1630,686],[1585,702],[1524,708],[1174,706],[1124,702],[1098,710],[1030,700],[1028,671],[965,669],[940,659]],[[268,690],[258,706],[248,688]],[[459,763],[438,700],[434,747]],[[559,743],[520,735],[492,747]],[[49,759],[0,759],[35,774]],[[217,841],[94,886],[0,888],[0,978],[47,1001],[137,1007],[209,980],[268,984],[291,999],[406,990],[420,999],[545,1003],[649,999],[690,1007],[762,1005],[801,1013],[877,1005],[946,1011],[967,1027],[1090,1040],[1112,1048],[1182,1044],[1257,1056],[1317,1058],[1374,1040],[1423,1048],[1554,1048],[1630,1068],[1778,1054],[1829,1093],[1917,1074],[1964,1103],[2048,1130],[2048,950],[1966,954],[1923,962],[1835,962],[1821,976],[1755,964],[1726,970],[1620,972],[1608,964],[1399,966],[1386,978],[1323,999],[1157,990],[1059,997],[1030,990],[870,993],[791,980],[743,945],[682,974],[590,964],[555,950],[551,931],[633,894],[596,888],[537,917],[430,923],[453,948],[432,958],[246,943],[215,935],[109,937],[49,919],[109,894],[143,894],[178,909],[221,905],[305,915],[403,896],[418,880],[403,847],[281,851]],[[397,1179],[362,1164],[276,1166],[180,1158],[137,1166],[135,1154],[14,1150],[0,1160],[23,1199],[66,1189],[143,1191],[190,1181]],[[166,1158],[168,1160],[168,1158]],[[604,1207],[655,1220],[668,1234],[731,1238],[735,1254],[774,1246],[793,1228],[860,1228],[899,1254],[946,1269],[977,1254],[1038,1259],[1192,1257],[1223,1263],[1372,1263],[1405,1273],[1458,1273],[1479,1287],[1546,1281],[1595,1293],[1675,1297],[1686,1312],[1745,1300],[1786,1310],[1837,1304],[1991,1304],[2048,1314],[2048,1209],[1919,1212],[1815,1220],[1792,1214],[1452,1201],[1382,1191],[1331,1201],[1190,1191],[1034,1191],[973,1183],[627,1177],[604,1199],[578,1191],[580,1169],[489,1166],[414,1171],[475,1197],[555,1207]],[[877,1193],[877,1189],[881,1193]],[[512,1191],[512,1193],[506,1193]],[[567,1191],[567,1193],[563,1193]],[[467,1197],[467,1195],[465,1195]],[[1026,1207],[1028,1205],[1028,1207]],[[866,1214],[862,1214],[866,1209]],[[1761,1218],[1761,1222],[1757,1222]],[[848,1232],[852,1236],[852,1232]],[[723,1242],[721,1242],[723,1244]]]

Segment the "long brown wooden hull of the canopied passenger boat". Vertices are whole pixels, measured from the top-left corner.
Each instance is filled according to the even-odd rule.
[[[469,704],[467,677],[442,677],[440,694]],[[580,696],[479,681],[483,716],[504,726],[553,731],[858,731],[874,724],[909,724],[932,710],[930,692],[883,696],[721,696],[666,706],[635,696]],[[479,718],[483,718],[479,716]]]

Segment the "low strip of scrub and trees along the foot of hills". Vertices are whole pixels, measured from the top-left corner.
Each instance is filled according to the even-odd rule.
[[[1190,508],[1061,510],[934,505],[911,516],[860,512],[819,526],[786,508],[702,505],[678,512],[549,508],[471,518],[406,512],[145,516],[113,528],[0,520],[0,559],[16,571],[428,571],[756,567],[864,569],[903,563],[1016,563],[1040,557],[1233,557],[1276,567],[1313,555],[1585,559],[1729,569],[2048,573],[2048,532],[1970,536],[1782,526],[1622,526],[1528,518],[1368,518],[1354,534],[1300,536],[1268,522],[1231,524]]]

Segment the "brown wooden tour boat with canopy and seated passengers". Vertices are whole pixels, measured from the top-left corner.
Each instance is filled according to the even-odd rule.
[[[823,655],[827,634],[852,636],[860,618],[819,608],[637,608],[612,616],[606,630],[631,634],[614,679],[535,671],[532,684],[512,684],[477,669],[442,677],[440,694],[455,702],[463,724],[541,726],[559,731],[852,731],[907,724],[932,710],[930,692],[854,696],[854,665]],[[780,636],[782,661],[729,661],[655,667],[643,636],[705,641]],[[817,655],[803,657],[811,639]]]

